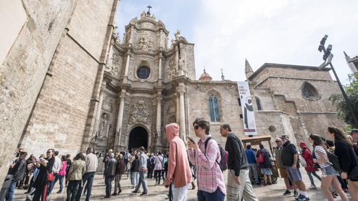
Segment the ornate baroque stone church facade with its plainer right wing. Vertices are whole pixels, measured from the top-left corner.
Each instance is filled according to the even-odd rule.
[[[113,36],[90,146],[166,150],[165,125],[176,122],[181,138],[195,137],[191,124],[198,117],[210,120],[220,144],[222,123],[243,134],[236,81],[212,81],[205,70],[196,80],[194,44],[179,31],[171,43],[169,37],[163,22],[144,12],[125,27],[122,41]],[[328,100],[339,93],[328,70],[264,64],[254,72],[246,62],[258,134],[302,141],[312,132],[324,135],[328,125],[342,126]]]

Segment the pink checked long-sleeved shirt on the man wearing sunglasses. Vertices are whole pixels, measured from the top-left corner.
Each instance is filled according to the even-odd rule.
[[[204,139],[199,140],[198,151],[194,151],[193,148],[188,150],[189,160],[198,169],[198,190],[214,193],[219,187],[220,191],[226,195],[224,176],[217,164],[217,162],[220,162],[220,150],[217,141],[210,139],[205,153],[205,140],[210,136],[210,134],[206,135]]]

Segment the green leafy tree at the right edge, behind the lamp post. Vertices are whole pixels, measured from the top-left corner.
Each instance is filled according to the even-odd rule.
[[[345,85],[345,92],[347,93],[347,97],[350,100],[350,104],[352,104],[352,109],[354,115],[358,115],[358,74],[350,74],[349,75],[350,83]],[[342,95],[331,95],[329,99],[332,101],[332,104],[337,107],[338,118],[343,120],[345,123],[352,125],[354,127],[354,120],[352,113],[350,113],[347,102]]]

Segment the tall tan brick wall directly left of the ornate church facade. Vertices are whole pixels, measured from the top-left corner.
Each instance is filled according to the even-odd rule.
[[[91,102],[98,98],[95,89],[98,75],[101,78],[100,61],[116,2],[77,1],[68,32],[53,56],[52,76],[44,81],[20,142],[29,153],[39,155],[55,148],[60,155],[75,155],[86,146],[84,132],[91,124],[89,115],[95,111]]]

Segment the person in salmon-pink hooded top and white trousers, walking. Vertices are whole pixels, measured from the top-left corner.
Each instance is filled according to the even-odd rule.
[[[165,126],[165,134],[170,144],[168,172],[165,188],[174,184],[173,200],[186,200],[188,184],[191,183],[191,170],[184,141],[179,138],[179,125],[171,123]]]

